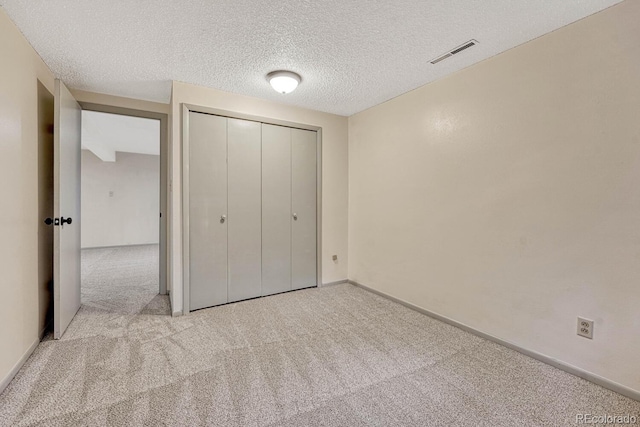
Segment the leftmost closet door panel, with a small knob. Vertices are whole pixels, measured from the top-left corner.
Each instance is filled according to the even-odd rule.
[[[227,302],[227,119],[189,113],[190,309]]]

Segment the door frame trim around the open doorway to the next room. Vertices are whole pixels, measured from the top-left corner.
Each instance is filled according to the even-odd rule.
[[[160,229],[159,232],[159,289],[160,295],[167,294],[168,280],[168,245],[169,235],[169,116],[165,113],[153,111],[136,110],[133,108],[116,107],[112,105],[95,104],[92,102],[78,101],[78,104],[86,111],[97,111],[100,113],[120,114],[123,116],[141,117],[145,119],[155,119],[160,121]]]

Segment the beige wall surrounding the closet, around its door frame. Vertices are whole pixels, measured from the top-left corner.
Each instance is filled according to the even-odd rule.
[[[266,83],[265,83],[266,84]],[[322,281],[347,278],[347,118],[278,104],[215,89],[173,83],[172,179],[173,197],[173,309],[182,306],[181,104],[195,104],[242,114],[322,127]],[[331,260],[338,255],[338,262]],[[180,291],[179,291],[180,289]]]

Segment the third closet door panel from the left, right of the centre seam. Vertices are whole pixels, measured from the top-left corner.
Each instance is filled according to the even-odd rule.
[[[291,290],[291,129],[262,125],[262,295]]]

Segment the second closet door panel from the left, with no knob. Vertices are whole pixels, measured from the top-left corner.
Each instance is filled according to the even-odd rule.
[[[229,302],[261,291],[261,124],[227,119]]]

